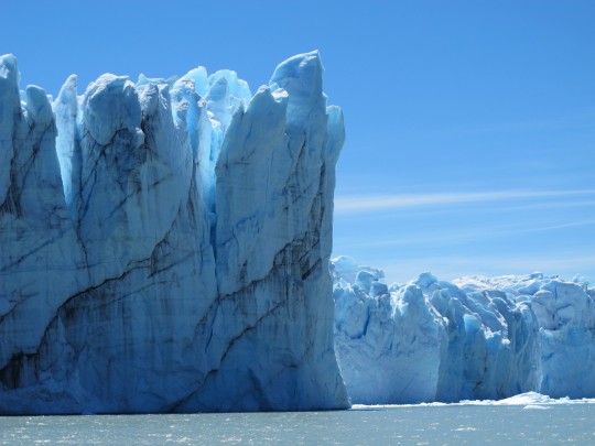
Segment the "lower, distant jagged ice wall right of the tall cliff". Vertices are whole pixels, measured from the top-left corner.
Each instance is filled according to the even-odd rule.
[[[335,349],[353,403],[595,396],[595,289],[534,273],[390,287],[332,260]]]

